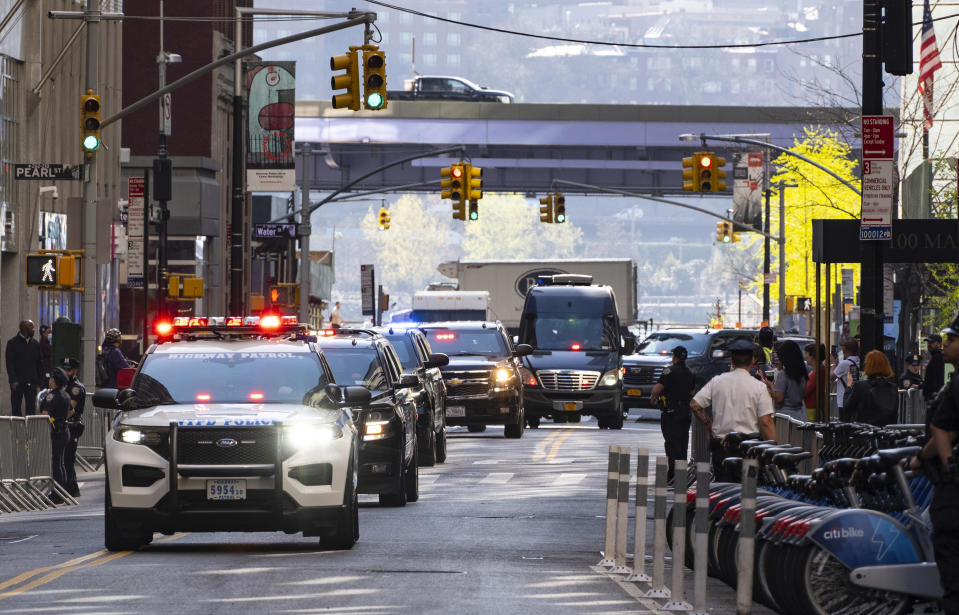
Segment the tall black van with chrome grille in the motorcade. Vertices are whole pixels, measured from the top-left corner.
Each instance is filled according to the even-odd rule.
[[[519,329],[519,342],[533,347],[521,370],[529,426],[591,415],[600,429],[621,429],[622,356],[634,345],[622,337],[613,289],[592,276],[546,276],[530,287]]]

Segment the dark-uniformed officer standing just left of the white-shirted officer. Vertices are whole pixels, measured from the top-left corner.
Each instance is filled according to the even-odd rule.
[[[692,422],[689,400],[693,396],[696,378],[686,367],[686,355],[685,347],[673,348],[673,363],[663,370],[649,397],[653,406],[659,406],[663,411],[659,426],[669,460],[666,473],[669,484],[673,483],[676,460],[686,459],[689,450],[689,424]]]

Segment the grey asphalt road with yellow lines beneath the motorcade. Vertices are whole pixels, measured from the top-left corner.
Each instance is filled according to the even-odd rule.
[[[109,553],[103,474],[83,474],[79,506],[0,515],[0,614],[659,612],[595,568],[608,447],[661,454],[658,424],[449,433],[447,463],[420,470],[419,502],[361,496],[350,551],[282,533],[189,533]],[[709,593],[712,612],[735,612],[732,590],[711,580]]]

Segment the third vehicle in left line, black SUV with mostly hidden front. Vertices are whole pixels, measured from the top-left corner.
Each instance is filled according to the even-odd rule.
[[[415,327],[374,330],[393,344],[403,370],[419,378],[419,384],[410,391],[416,402],[420,465],[443,463],[446,461],[446,384],[439,368],[450,362],[449,357],[433,353],[426,335]]]

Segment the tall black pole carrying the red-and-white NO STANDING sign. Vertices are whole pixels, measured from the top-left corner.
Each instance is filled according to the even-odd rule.
[[[862,5],[862,115],[882,113],[882,18],[881,0],[864,0]],[[860,241],[862,299],[860,305],[860,353],[882,350],[882,241]],[[818,303],[818,299],[817,299]]]

